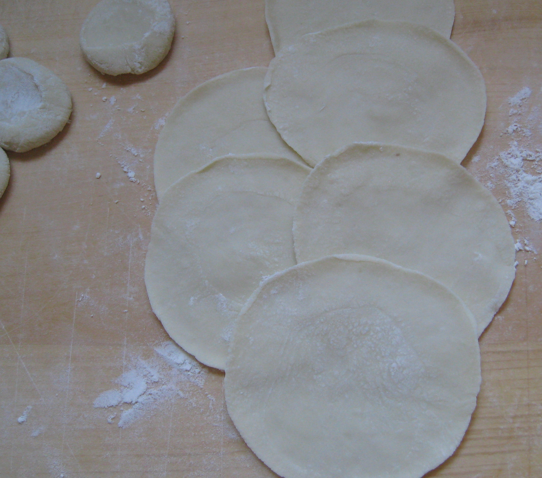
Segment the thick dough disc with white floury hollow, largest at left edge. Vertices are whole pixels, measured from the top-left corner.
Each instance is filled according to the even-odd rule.
[[[68,87],[27,58],[0,61],[0,146],[24,152],[53,139],[72,113]]]

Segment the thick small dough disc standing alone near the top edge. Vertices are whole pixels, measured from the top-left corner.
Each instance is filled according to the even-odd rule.
[[[99,72],[139,75],[164,59],[174,31],[167,0],[102,0],[83,23],[80,44]]]

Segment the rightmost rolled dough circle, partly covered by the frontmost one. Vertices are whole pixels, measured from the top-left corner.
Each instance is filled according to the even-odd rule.
[[[294,216],[298,262],[382,257],[453,290],[478,333],[505,301],[514,240],[491,193],[462,166],[399,146],[352,145],[307,178]]]

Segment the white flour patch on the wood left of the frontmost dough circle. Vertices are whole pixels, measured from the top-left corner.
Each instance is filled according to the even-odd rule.
[[[203,387],[205,370],[176,344],[166,341],[154,348],[154,352],[156,356],[152,360],[135,360],[131,370],[115,379],[119,387],[100,393],[94,400],[94,408],[133,405],[121,408],[120,428],[128,427],[164,401],[187,398],[182,390],[186,386]],[[214,401],[213,397],[208,398]],[[116,416],[116,413],[109,415],[107,422],[113,423]]]

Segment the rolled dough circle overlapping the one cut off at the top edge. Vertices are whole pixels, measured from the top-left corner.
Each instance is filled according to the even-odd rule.
[[[265,102],[282,138],[314,166],[357,141],[461,163],[480,133],[486,89],[475,64],[435,31],[371,20],[307,34],[271,61]]]

